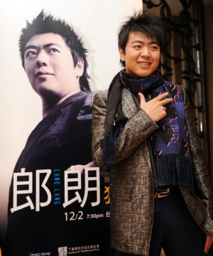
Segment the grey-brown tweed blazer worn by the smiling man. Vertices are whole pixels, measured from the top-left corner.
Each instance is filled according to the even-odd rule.
[[[181,89],[182,90],[182,89]],[[147,138],[158,125],[137,110],[129,90],[122,90],[122,110],[128,118],[116,142],[116,164],[104,166],[102,138],[107,112],[107,91],[94,97],[92,117],[92,157],[101,169],[110,168],[111,247],[122,252],[148,256],[153,226],[154,186]],[[180,187],[190,213],[205,233],[213,235],[212,188],[204,165],[200,139],[190,103],[184,91],[185,113],[190,134],[190,152],[195,186]]]

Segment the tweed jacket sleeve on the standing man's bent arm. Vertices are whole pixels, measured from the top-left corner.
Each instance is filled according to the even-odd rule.
[[[92,158],[94,164],[102,169],[102,139],[104,137],[104,120],[107,112],[107,92],[99,92],[94,96],[92,110]],[[158,125],[143,110],[136,111],[126,122],[116,140],[116,164],[130,156],[136,148],[149,137]]]

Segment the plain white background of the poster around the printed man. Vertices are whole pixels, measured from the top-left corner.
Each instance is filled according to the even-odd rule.
[[[40,97],[31,89],[21,66],[18,37],[26,19],[42,9],[71,24],[89,50],[92,90],[103,90],[118,70],[117,31],[126,16],[142,9],[142,0],[1,0],[0,8],[0,235],[4,233],[13,167],[28,135],[40,121]]]

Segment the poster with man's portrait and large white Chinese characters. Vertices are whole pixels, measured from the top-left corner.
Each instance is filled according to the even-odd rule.
[[[0,246],[13,248],[5,255],[108,255],[109,172],[89,164],[92,97],[121,69],[119,25],[139,9],[141,0],[1,1]],[[82,41],[92,91],[71,95],[45,116],[18,48],[26,20],[42,10]],[[58,119],[62,112],[70,126]],[[64,124],[69,137],[58,135]],[[59,136],[66,146],[58,146]]]

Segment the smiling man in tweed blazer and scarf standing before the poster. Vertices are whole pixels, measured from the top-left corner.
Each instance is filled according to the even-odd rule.
[[[185,90],[158,72],[160,18],[119,31],[125,70],[94,97],[92,156],[110,168],[111,255],[200,256],[213,237],[212,191]]]

